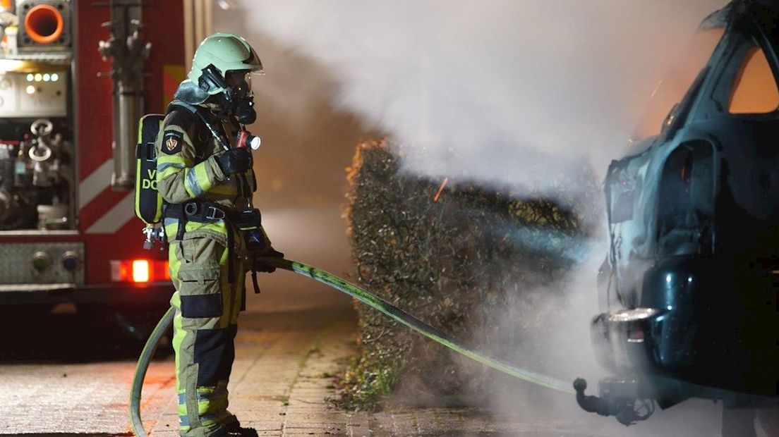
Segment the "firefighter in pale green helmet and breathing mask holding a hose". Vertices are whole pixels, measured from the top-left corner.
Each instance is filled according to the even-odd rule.
[[[271,248],[259,211],[251,208],[251,149],[235,147],[242,125],[256,118],[251,75],[262,69],[243,38],[206,37],[155,144],[176,288],[171,305],[181,435],[248,431],[227,411],[245,272],[273,271],[252,262],[258,254],[283,256]]]

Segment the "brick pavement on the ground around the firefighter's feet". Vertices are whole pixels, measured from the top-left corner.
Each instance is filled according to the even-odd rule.
[[[313,302],[315,301],[304,301]],[[250,311],[241,316],[231,378],[231,411],[259,435],[718,435],[717,405],[688,401],[630,428],[580,411],[573,399],[539,407],[525,386],[509,409],[542,414],[501,417],[474,408],[394,407],[375,414],[342,411],[334,375],[354,354],[351,306]],[[0,434],[128,435],[132,358],[97,362],[0,363]],[[143,418],[155,437],[178,435],[173,357],[155,360],[146,376]],[[689,427],[679,428],[679,424]],[[694,432],[689,432],[691,428]],[[764,437],[764,435],[761,435]]]

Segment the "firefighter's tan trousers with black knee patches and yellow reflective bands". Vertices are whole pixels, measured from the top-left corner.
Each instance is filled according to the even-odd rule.
[[[176,235],[177,227],[166,223],[166,231],[172,232],[167,235]],[[225,230],[224,223],[189,222],[183,239],[171,240],[168,252],[176,288],[171,305],[178,425],[187,437],[218,434],[237,421],[227,411],[227,381],[235,358],[245,270],[235,256],[242,238],[228,250],[231,239]]]

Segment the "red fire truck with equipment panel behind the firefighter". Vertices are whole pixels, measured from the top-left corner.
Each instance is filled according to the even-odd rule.
[[[2,313],[155,320],[169,306],[167,251],[143,249],[133,212],[137,129],[185,77],[205,5],[0,1]]]

